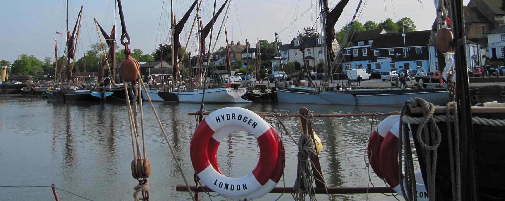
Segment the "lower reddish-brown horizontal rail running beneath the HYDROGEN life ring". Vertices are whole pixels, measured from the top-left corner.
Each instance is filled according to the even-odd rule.
[[[214,192],[207,186],[189,186],[192,191],[198,192]],[[179,192],[187,192],[188,189],[185,185],[177,185],[175,190]],[[395,193],[391,187],[381,186],[381,187],[326,187],[326,188],[314,188],[317,194],[359,194],[359,193]],[[274,187],[269,193],[294,193],[293,187]]]

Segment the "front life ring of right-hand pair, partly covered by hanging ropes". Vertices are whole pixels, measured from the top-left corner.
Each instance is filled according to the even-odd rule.
[[[399,119],[397,119],[399,120]],[[380,170],[384,180],[393,188],[395,192],[402,195],[398,178],[398,137],[399,137],[399,121],[394,124],[387,132],[380,149]],[[410,132],[409,132],[410,133]],[[412,133],[410,133],[412,135]],[[410,142],[406,142],[410,143]],[[385,171],[388,170],[388,171]],[[428,200],[428,193],[423,182],[421,171],[415,173],[417,200]],[[405,185],[405,181],[401,182]]]

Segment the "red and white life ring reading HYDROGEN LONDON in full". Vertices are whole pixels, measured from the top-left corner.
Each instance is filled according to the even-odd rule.
[[[251,173],[226,177],[217,162],[221,140],[237,131],[255,135],[260,146],[258,165]],[[212,190],[233,199],[253,199],[272,190],[284,171],[285,154],[282,141],[270,124],[243,108],[229,107],[209,114],[198,124],[191,138],[191,163],[202,182]]]

